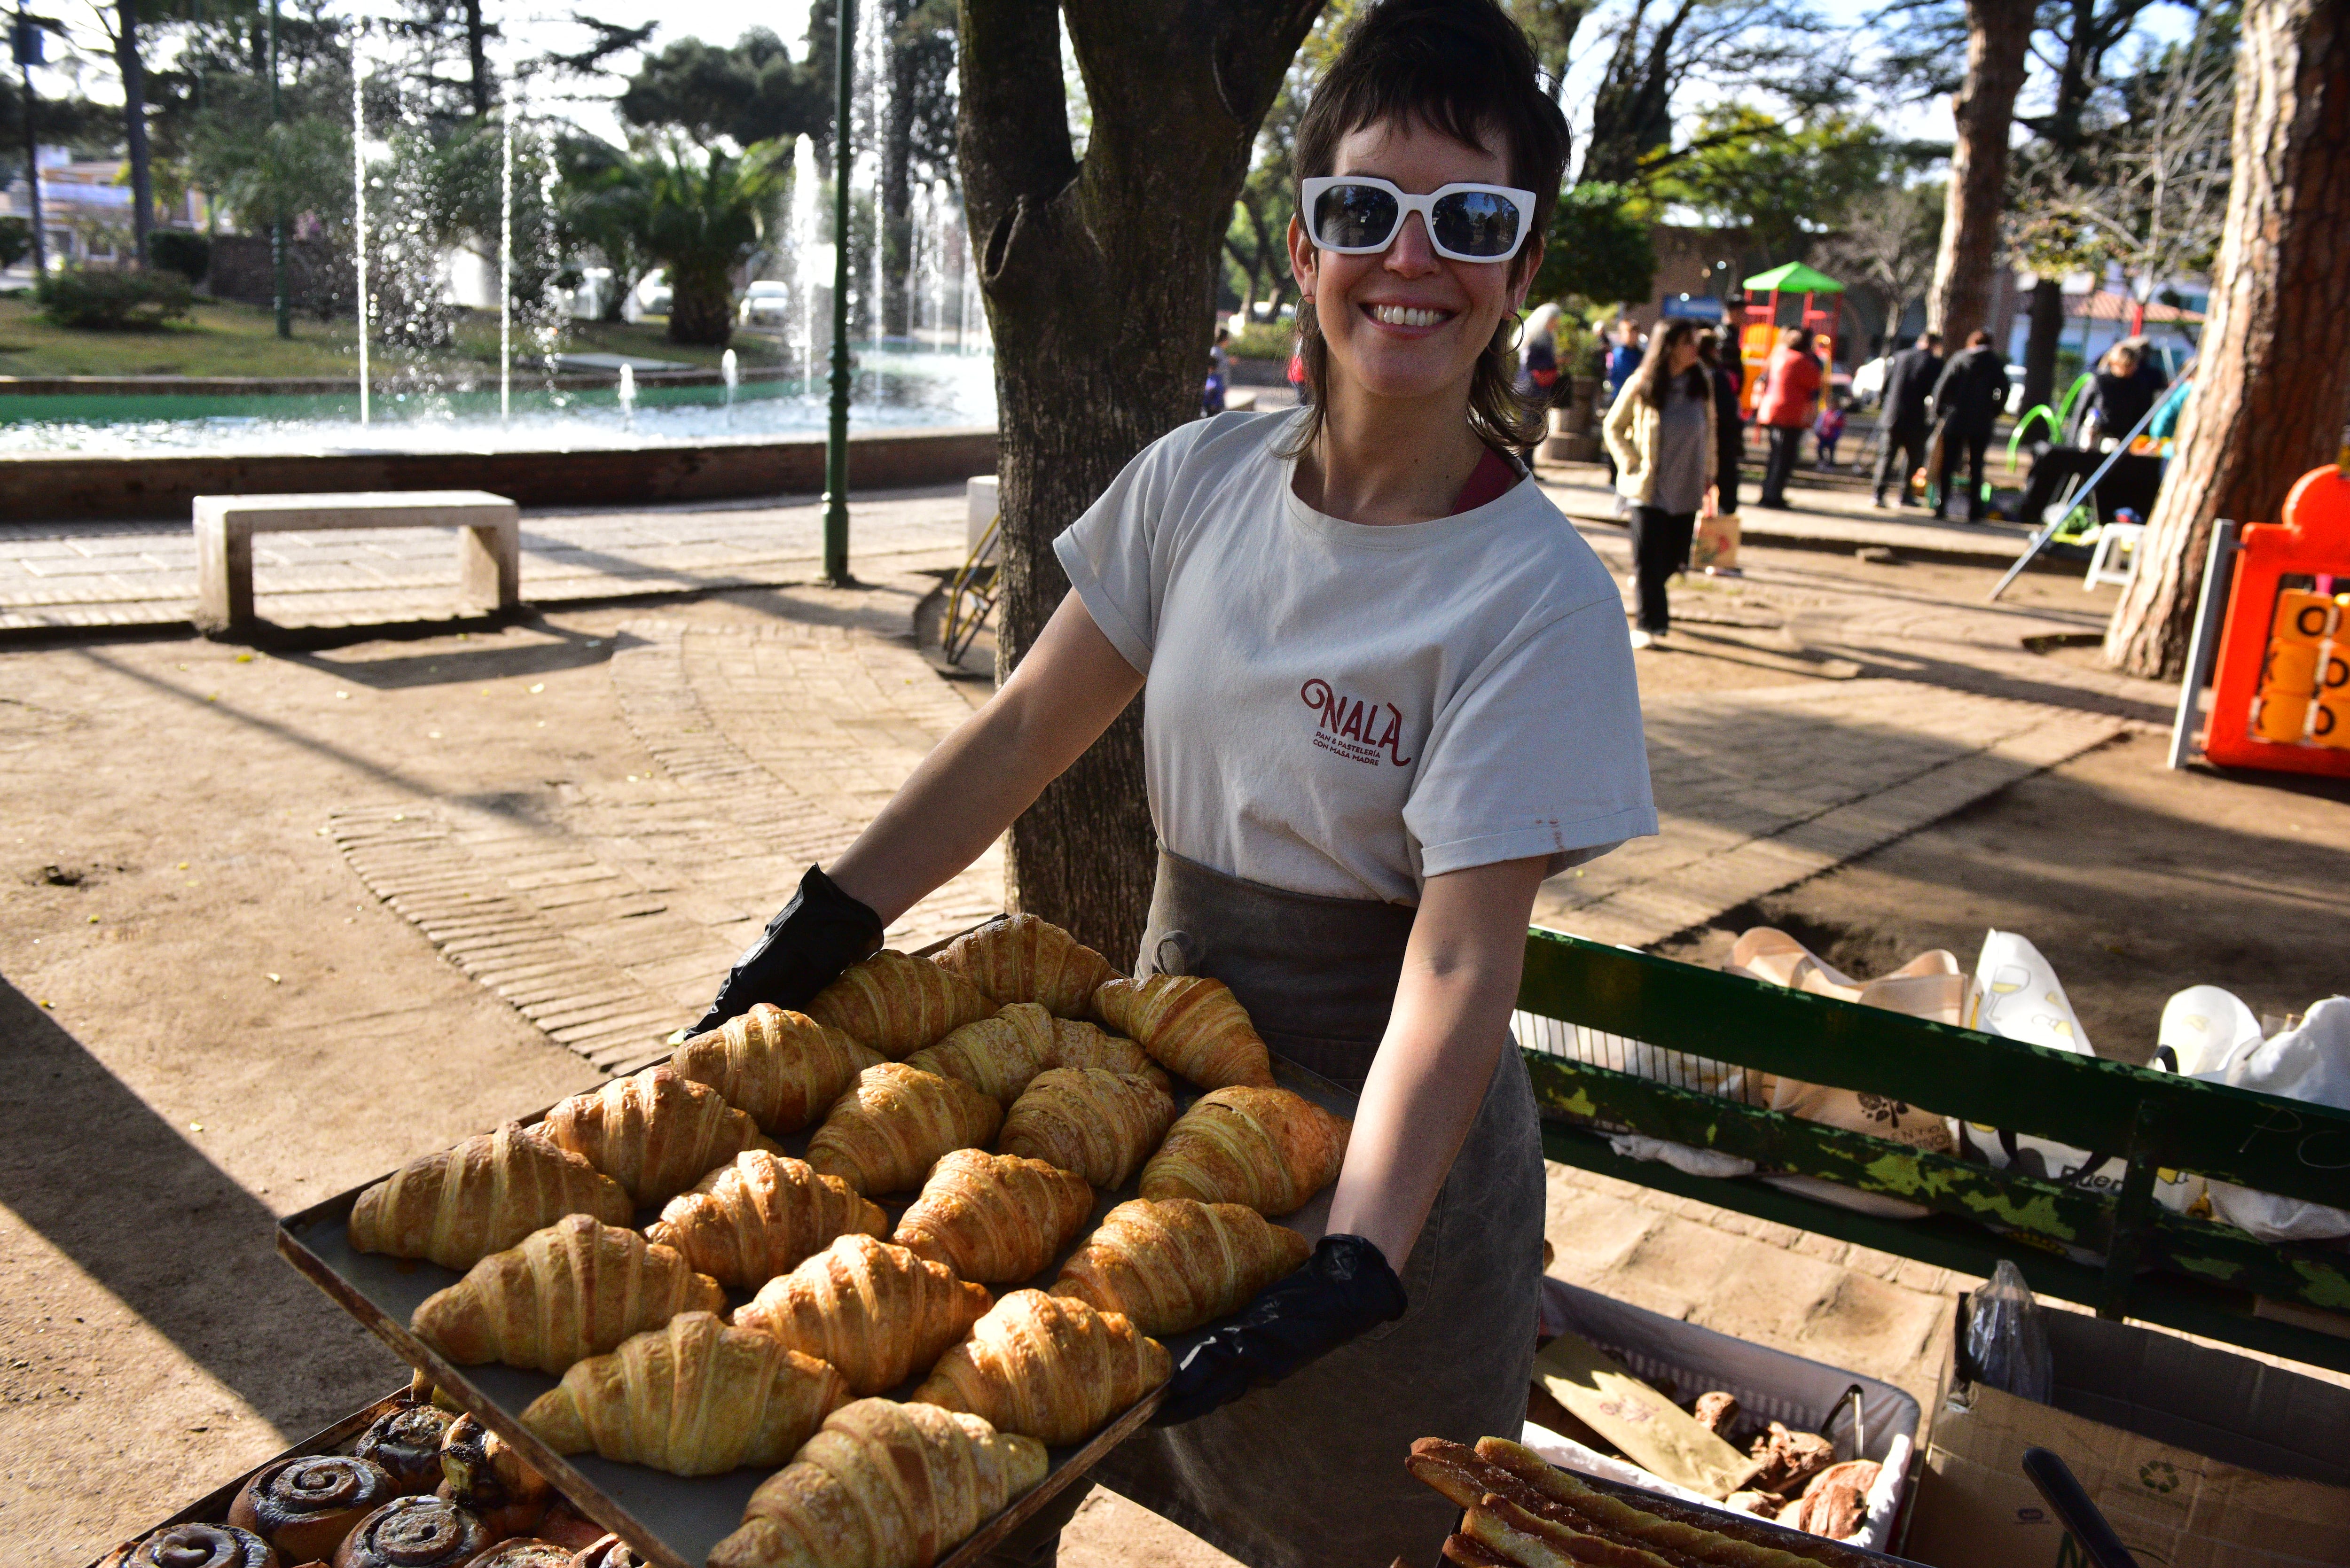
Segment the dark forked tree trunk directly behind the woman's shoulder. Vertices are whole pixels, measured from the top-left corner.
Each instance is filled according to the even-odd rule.
[[[1203,308],[1257,125],[1321,0],[1069,0],[1093,101],[1069,143],[1053,0],[961,0],[956,158],[996,341],[1008,672],[1069,590],[1053,536],[1198,414]],[[1135,959],[1154,832],[1142,705],[1013,823],[1008,898]]]

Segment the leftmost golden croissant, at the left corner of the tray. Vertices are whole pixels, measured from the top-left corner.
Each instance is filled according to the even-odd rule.
[[[627,1225],[634,1206],[620,1182],[508,1121],[362,1192],[350,1208],[350,1246],[470,1269],[566,1213]]]

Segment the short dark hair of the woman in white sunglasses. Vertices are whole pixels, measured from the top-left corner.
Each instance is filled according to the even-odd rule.
[[[1567,120],[1542,89],[1535,49],[1495,0],[1379,0],[1347,31],[1330,71],[1314,87],[1297,122],[1297,179],[1330,174],[1337,143],[1379,120],[1410,120],[1469,148],[1502,136],[1509,183],[1535,193],[1525,249],[1511,259],[1511,280],[1532,266],[1535,242],[1551,226],[1558,181],[1567,167]],[[1300,209],[1304,200],[1292,193]],[[1492,447],[1532,447],[1542,440],[1542,409],[1518,397],[1509,355],[1509,322],[1478,355],[1469,383],[1469,428]],[[1311,414],[1292,451],[1321,433],[1330,346],[1314,320],[1314,301],[1297,306],[1297,357],[1307,371]]]

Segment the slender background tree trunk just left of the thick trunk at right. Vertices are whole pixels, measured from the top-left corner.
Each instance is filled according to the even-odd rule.
[[[1958,141],[1950,146],[1941,247],[1925,306],[1925,324],[1953,353],[1990,315],[2000,209],[2007,205],[2007,127],[2016,115],[2030,40],[2033,0],[1967,0],[1967,82],[1950,99]]]

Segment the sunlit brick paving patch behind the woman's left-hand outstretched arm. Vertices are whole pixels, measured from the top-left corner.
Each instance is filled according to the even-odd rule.
[[[611,661],[644,773],[552,813],[341,811],[367,886],[458,969],[599,1067],[658,1056],[759,933],[971,705],[905,642],[844,628],[632,621]],[[921,947],[1003,905],[989,851],[888,931]]]

